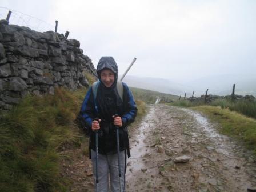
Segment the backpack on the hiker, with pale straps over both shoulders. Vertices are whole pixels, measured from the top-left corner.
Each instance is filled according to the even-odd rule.
[[[98,106],[96,103],[96,95],[98,91],[98,86],[99,86],[99,81],[94,82],[93,85],[91,85],[91,89],[93,91],[93,98],[94,98],[94,103],[95,103],[95,110],[98,113]],[[117,91],[118,95],[121,98],[121,101],[123,101],[123,84],[121,81],[117,81]],[[75,124],[82,129],[83,132],[85,132],[86,135],[90,135],[90,131],[86,127],[85,119],[83,119],[83,116],[81,112],[78,113],[77,118],[75,119]]]

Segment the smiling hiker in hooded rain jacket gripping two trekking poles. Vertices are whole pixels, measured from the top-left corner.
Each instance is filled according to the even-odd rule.
[[[102,57],[97,66],[99,84],[97,95],[92,87],[86,94],[81,107],[90,133],[90,158],[94,175],[98,169],[99,191],[120,191],[118,175],[118,151],[116,129],[119,130],[119,151],[121,167],[121,191],[125,191],[126,154],[130,157],[127,126],[137,115],[137,106],[133,95],[125,83],[122,83],[123,95],[117,88],[118,66],[113,57]],[[121,82],[120,82],[121,83]],[[96,162],[95,131],[98,131],[98,168]]]

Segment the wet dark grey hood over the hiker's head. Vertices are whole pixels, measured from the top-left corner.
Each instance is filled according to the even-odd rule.
[[[115,82],[113,83],[113,86],[115,86],[117,84],[117,78],[118,78],[118,66],[117,66],[117,63],[115,62],[115,59],[111,56],[104,56],[104,57],[101,57],[101,59],[99,59],[96,71],[97,71],[97,75],[100,82],[101,82],[100,74],[102,69],[110,69],[111,71],[113,71],[113,73],[115,74]]]

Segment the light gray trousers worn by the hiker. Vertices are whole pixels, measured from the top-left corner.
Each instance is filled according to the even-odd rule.
[[[93,162],[94,183],[96,190],[96,152],[91,150]],[[125,151],[120,152],[121,191],[125,192]],[[111,155],[98,155],[98,189],[99,192],[109,191],[109,175],[111,192],[119,192],[118,153]]]

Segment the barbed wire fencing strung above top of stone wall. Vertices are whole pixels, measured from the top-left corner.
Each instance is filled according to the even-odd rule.
[[[45,31],[55,31],[55,26],[43,21],[42,19],[38,19],[31,15],[22,13],[21,11],[9,9],[8,7],[0,6],[0,19],[6,19],[8,12],[11,11],[11,17],[9,19],[10,24],[26,26],[30,29],[37,30],[40,32]],[[65,30],[59,29],[58,33],[65,34]]]

